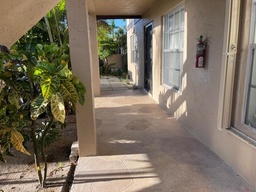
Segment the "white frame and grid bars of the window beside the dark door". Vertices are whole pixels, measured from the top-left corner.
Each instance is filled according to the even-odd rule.
[[[162,51],[162,84],[169,88],[169,89],[174,89],[175,91],[182,91],[182,74],[183,74],[183,67],[182,69],[179,69],[178,71],[180,71],[179,74],[179,87],[175,86],[175,85],[167,85],[166,83],[164,83],[164,52],[174,52],[174,53],[178,53],[178,52],[183,52],[184,49],[169,49],[169,38],[170,35],[168,35],[168,49],[165,49],[165,39],[164,36],[165,34],[170,34],[170,27],[169,27],[169,19],[170,19],[170,14],[175,15],[175,12],[179,11],[179,14],[181,13],[181,11],[185,10],[185,4],[179,4],[177,6],[174,7],[174,9],[172,9],[171,11],[169,11],[167,14],[163,15],[163,51]],[[165,17],[169,16],[168,18],[168,30],[165,31]],[[179,17],[179,19],[181,19],[181,17]],[[185,17],[184,17],[184,21],[185,23]],[[179,23],[181,23],[181,20],[179,21]],[[174,21],[173,21],[173,25],[174,25]],[[179,25],[180,26],[180,25]],[[185,30],[185,26],[183,26],[183,31]],[[172,32],[174,33],[175,30],[173,30]],[[181,27],[179,27],[179,41],[180,41],[180,32],[181,32]],[[174,34],[173,34],[174,35]],[[180,42],[179,42],[180,43]],[[184,46],[184,37],[183,37],[183,46]],[[183,58],[182,58],[182,66],[183,66]],[[172,69],[172,70],[176,70],[176,69]]]

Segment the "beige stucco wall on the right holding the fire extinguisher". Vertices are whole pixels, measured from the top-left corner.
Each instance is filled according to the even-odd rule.
[[[179,0],[158,0],[134,26],[134,33],[138,35],[137,66],[131,63],[133,30],[127,32],[130,78],[143,87],[143,26],[153,21],[153,98],[256,187],[256,148],[227,130],[217,129],[226,1],[185,1],[182,92],[162,85],[162,16],[179,3]],[[200,35],[207,38],[206,66],[203,69],[195,68],[196,44]]]

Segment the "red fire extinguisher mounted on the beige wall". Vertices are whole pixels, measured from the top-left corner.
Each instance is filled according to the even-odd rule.
[[[203,41],[203,36],[200,35],[198,38],[198,44],[196,45],[196,68],[204,68],[205,48],[206,42]]]

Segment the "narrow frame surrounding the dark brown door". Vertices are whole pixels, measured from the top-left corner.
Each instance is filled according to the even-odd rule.
[[[148,94],[150,94],[151,96],[153,95],[153,67],[151,68],[151,73],[152,73],[152,87],[151,87],[151,93],[150,92],[148,92],[147,90],[146,90],[146,50],[147,50],[147,41],[146,41],[146,32],[147,32],[147,27],[149,27],[149,26],[152,26],[152,30],[153,30],[153,21],[150,21],[150,22],[148,22],[147,23],[147,25],[145,25],[144,26],[144,33],[143,33],[143,35],[144,35],[144,87],[143,87],[143,90],[145,90]],[[153,36],[153,35],[152,35]],[[153,66],[153,38],[151,39],[151,47],[152,47],[152,66]]]

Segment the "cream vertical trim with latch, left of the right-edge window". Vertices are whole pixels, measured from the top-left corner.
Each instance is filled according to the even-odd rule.
[[[238,42],[238,29],[241,12],[240,4],[241,0],[227,0],[226,2],[225,30],[222,51],[224,53],[236,51],[235,45],[237,45]],[[235,62],[236,54],[222,55],[217,120],[217,127],[219,130],[229,128],[231,123]]]

